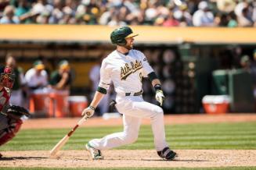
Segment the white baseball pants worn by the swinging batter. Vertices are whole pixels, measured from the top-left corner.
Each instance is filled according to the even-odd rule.
[[[139,136],[139,126],[142,118],[151,119],[151,126],[154,136],[154,145],[157,151],[168,147],[165,140],[164,112],[155,104],[143,100],[141,96],[117,95],[117,110],[123,114],[124,131],[112,133],[101,139],[90,140],[92,147],[99,150],[106,150],[113,147],[120,147],[128,143],[134,143]]]

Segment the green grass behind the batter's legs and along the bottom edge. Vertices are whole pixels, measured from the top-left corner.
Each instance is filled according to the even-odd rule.
[[[112,127],[82,127],[77,129],[63,150],[84,150],[85,143],[93,138],[99,138],[109,133],[119,132],[122,126]],[[49,151],[69,132],[70,129],[23,129],[9,143],[0,147],[1,151]],[[256,149],[256,122],[211,123],[166,126],[168,143],[175,150],[182,149]],[[150,126],[142,126],[139,139],[128,146],[118,147],[125,150],[153,149],[153,134]],[[1,161],[0,161],[1,167]],[[0,168],[20,170],[56,170],[70,168]],[[78,169],[120,169],[120,168],[72,168]],[[121,168],[122,170],[131,168]],[[225,167],[225,168],[132,168],[132,169],[256,169],[256,167]]]

